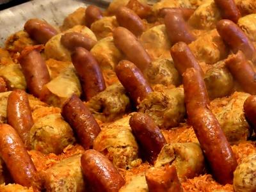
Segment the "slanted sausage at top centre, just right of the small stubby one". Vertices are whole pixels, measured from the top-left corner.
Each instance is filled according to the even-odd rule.
[[[135,36],[140,36],[145,31],[145,26],[140,17],[125,6],[120,6],[116,10],[116,20],[119,26],[131,31]]]

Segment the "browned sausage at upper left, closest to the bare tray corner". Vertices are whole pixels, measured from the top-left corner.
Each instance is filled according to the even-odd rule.
[[[29,19],[24,29],[39,44],[46,44],[52,36],[58,33],[49,23],[40,19]]]

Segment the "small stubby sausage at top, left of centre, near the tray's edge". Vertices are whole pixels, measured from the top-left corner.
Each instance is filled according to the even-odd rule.
[[[85,10],[85,24],[88,28],[91,28],[92,23],[102,17],[102,11],[95,5],[90,5]]]

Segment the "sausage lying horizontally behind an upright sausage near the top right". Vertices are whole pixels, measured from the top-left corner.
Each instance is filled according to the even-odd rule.
[[[192,8],[162,8],[158,15],[159,17],[165,17],[165,15],[168,13],[178,13],[182,15],[184,20],[188,20],[190,16],[195,12],[195,9]]]

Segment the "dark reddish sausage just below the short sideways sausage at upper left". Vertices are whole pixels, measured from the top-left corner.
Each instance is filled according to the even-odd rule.
[[[72,63],[82,84],[86,100],[106,89],[98,62],[94,56],[83,47],[77,47],[71,55]]]

